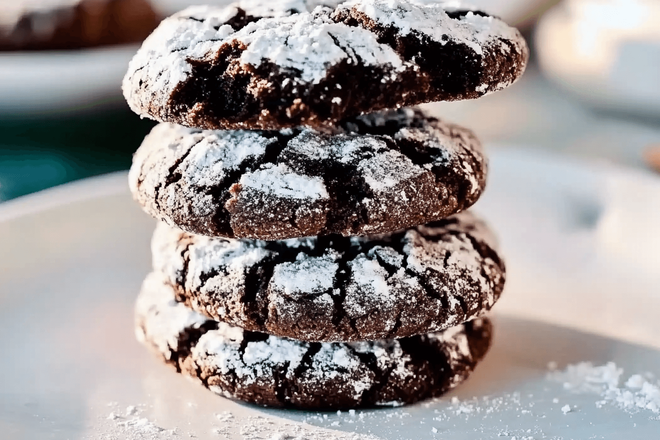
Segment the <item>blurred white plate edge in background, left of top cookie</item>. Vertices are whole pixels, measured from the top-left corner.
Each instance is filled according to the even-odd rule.
[[[0,116],[121,102],[121,79],[138,47],[0,52]]]

